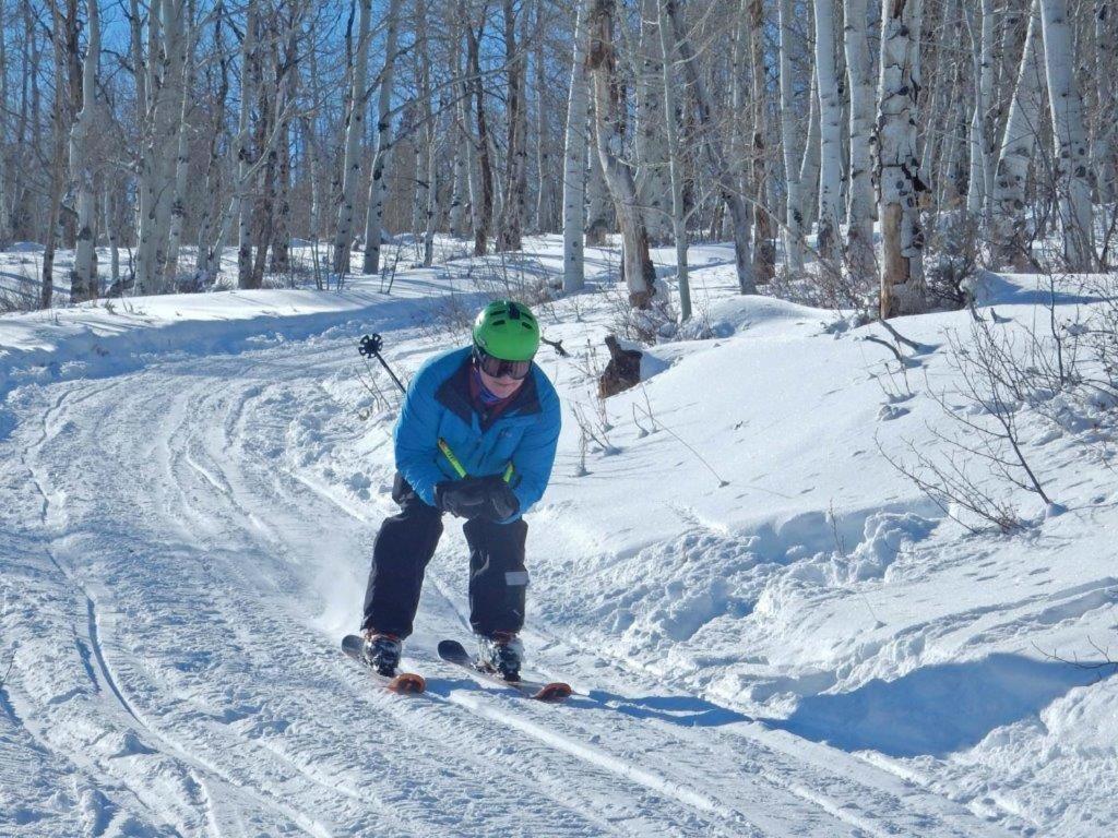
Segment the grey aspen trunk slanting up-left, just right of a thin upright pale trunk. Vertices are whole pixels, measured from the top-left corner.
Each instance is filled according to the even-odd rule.
[[[698,61],[691,49],[691,42],[686,38],[683,21],[679,8],[674,0],[667,0],[664,7],[669,19],[672,22],[672,31],[675,36],[675,46],[680,54],[680,61],[686,73],[688,82],[691,86],[691,97],[694,102],[695,118],[703,131],[702,150],[707,159],[708,168],[714,178],[722,201],[730,212],[733,225],[733,255],[735,268],[738,275],[738,289],[741,294],[756,294],[757,285],[754,280],[752,245],[750,242],[750,213],[749,208],[737,191],[737,178],[722,150],[711,120],[710,98],[707,96],[707,87],[702,76],[699,74]]]

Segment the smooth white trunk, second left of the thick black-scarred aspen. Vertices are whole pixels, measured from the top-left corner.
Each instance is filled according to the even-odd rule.
[[[839,217],[842,206],[842,103],[834,42],[835,0],[814,0],[815,75],[819,89],[819,221],[816,249],[840,265]]]

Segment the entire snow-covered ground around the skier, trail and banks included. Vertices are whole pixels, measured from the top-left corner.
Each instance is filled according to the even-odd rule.
[[[728,247],[692,250],[717,336],[655,346],[604,413],[616,254],[538,308],[571,358],[541,353],[565,429],[528,518],[525,641],[578,695],[437,659],[468,630],[454,524],[405,650],[428,693],[340,654],[395,508],[397,397],[357,339],[406,374],[559,247],[401,270],[391,295],[0,317],[0,835],[1115,834],[1114,667],[1053,657],[1103,663],[1118,637],[1097,429],[1026,425],[1068,512],[1023,499],[1023,533],[970,534],[879,450],[958,432],[931,394],[969,314],[897,322],[923,345],[906,383],[859,340],[881,326],[736,296]],[[1032,322],[1036,282],[989,278],[1001,327]],[[580,422],[606,444],[585,457]]]

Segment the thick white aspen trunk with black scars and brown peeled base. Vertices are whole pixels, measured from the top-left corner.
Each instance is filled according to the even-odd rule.
[[[916,144],[921,0],[882,0],[878,86],[878,183],[882,237],[881,318],[927,308]]]

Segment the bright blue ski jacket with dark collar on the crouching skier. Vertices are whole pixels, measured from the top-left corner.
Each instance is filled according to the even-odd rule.
[[[471,347],[427,361],[411,379],[396,422],[396,468],[423,501],[435,505],[435,484],[457,479],[438,447],[439,438],[454,451],[471,477],[502,474],[511,461],[511,480],[520,501],[518,520],[543,496],[561,417],[559,396],[543,371],[532,364],[523,385],[499,416],[480,412],[470,398]]]

